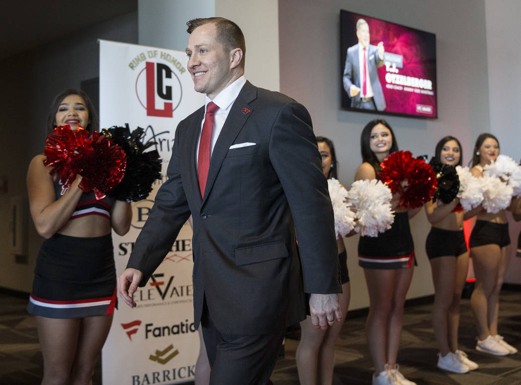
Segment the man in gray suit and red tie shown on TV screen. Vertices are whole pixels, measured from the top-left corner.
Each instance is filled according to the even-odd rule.
[[[383,65],[383,42],[369,44],[369,25],[356,21],[358,43],[348,48],[343,75],[344,90],[351,98],[351,107],[383,111],[386,100],[378,79],[378,67]]]

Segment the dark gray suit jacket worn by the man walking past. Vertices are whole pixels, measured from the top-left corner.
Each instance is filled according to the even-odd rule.
[[[285,95],[246,82],[214,147],[201,198],[195,150],[203,114],[204,106],[177,127],[168,181],[128,267],[143,272],[143,286],[192,214],[195,327],[204,297],[221,333],[264,334],[277,322],[294,324],[305,318],[304,291],[341,291],[311,117]],[[230,149],[244,142],[255,145]]]

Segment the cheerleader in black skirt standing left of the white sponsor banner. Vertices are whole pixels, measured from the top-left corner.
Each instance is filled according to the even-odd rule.
[[[94,106],[80,90],[55,98],[47,119],[56,126],[98,129]],[[132,219],[130,204],[80,188],[82,177],[65,187],[44,154],[29,165],[27,188],[36,231],[45,238],[36,259],[28,311],[36,318],[43,354],[42,384],[91,383],[116,305],[116,269],[111,231],[123,235]]]

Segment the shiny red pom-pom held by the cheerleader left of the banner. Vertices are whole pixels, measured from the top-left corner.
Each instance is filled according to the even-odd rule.
[[[79,174],[80,188],[93,190],[96,199],[104,198],[125,175],[125,152],[97,131],[89,136],[81,127],[56,127],[45,140],[45,156],[44,165],[54,166],[51,174],[58,173],[64,187]]]

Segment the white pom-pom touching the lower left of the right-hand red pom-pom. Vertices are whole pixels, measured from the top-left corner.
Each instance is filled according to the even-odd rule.
[[[348,204],[356,212],[355,231],[363,236],[376,237],[391,228],[391,189],[377,179],[356,181],[348,192]]]

